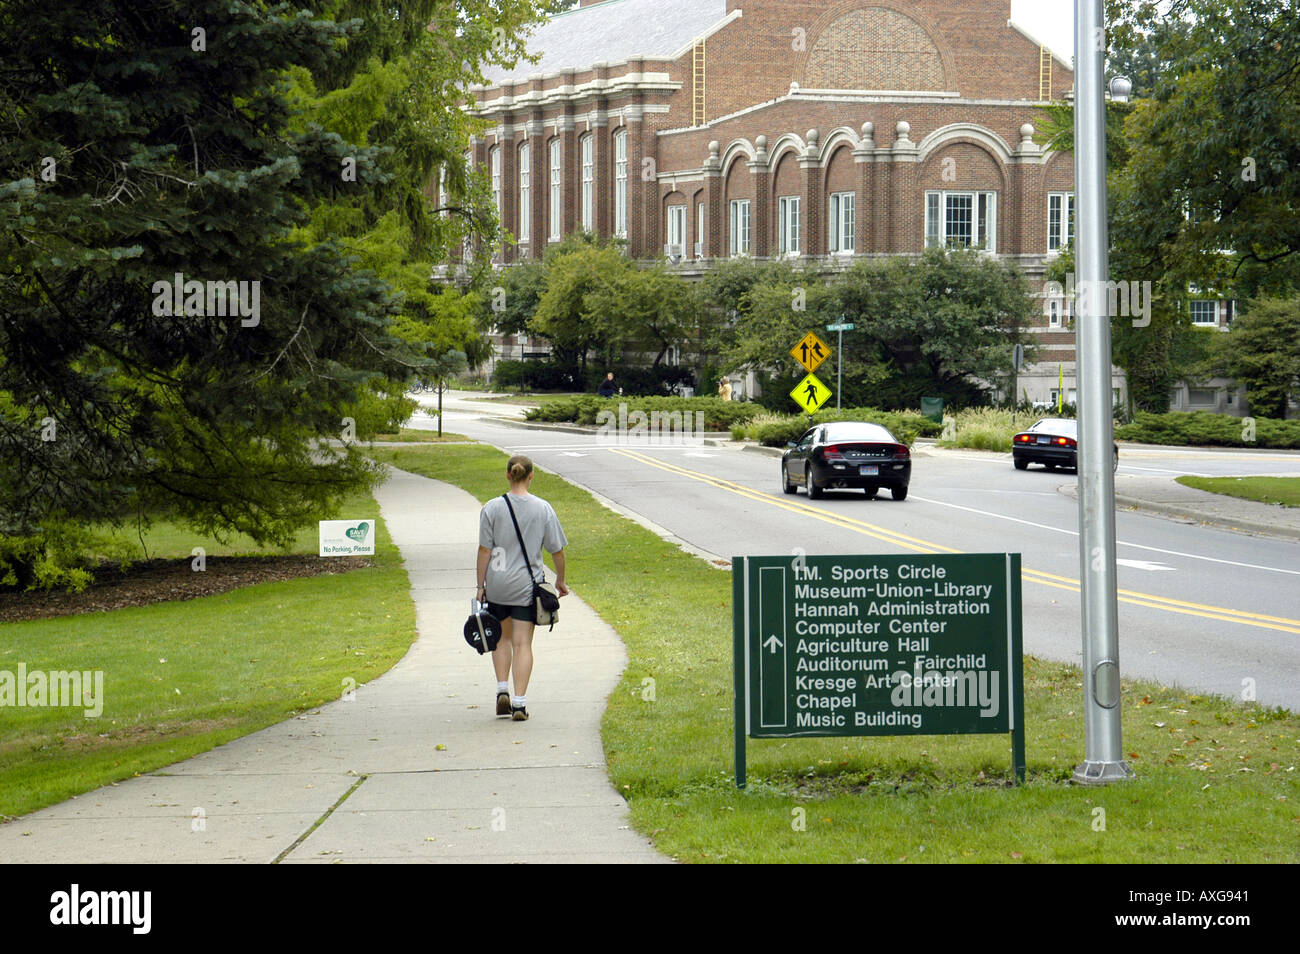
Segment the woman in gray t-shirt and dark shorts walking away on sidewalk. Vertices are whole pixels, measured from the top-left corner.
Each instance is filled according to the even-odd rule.
[[[564,547],[568,539],[559,517],[546,500],[533,496],[533,461],[517,455],[506,465],[510,493],[494,496],[478,515],[478,599],[500,620],[500,642],[491,654],[497,671],[497,715],[528,719],[528,680],[533,673],[533,628],[537,607],[533,584],[542,581],[542,548],[555,560],[555,590],[564,585]],[[519,524],[519,532],[515,524]],[[526,552],[520,551],[523,537]],[[515,694],[510,693],[511,668]]]

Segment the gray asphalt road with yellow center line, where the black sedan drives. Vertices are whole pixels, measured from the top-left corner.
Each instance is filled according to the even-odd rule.
[[[1026,651],[1080,660],[1078,504],[1061,493],[1072,473],[1019,472],[1010,455],[918,448],[905,502],[887,493],[867,500],[861,491],[809,500],[781,493],[776,458],[734,447],[611,446],[520,429],[491,413],[511,408],[452,398],[443,426],[528,454],[722,559],[800,548],[1019,552]],[[1300,476],[1300,455],[1121,448],[1119,473]],[[1300,543],[1131,512],[1117,515],[1117,539],[1126,677],[1238,698],[1253,686],[1261,703],[1300,711]],[[580,586],[576,567],[573,578]]]

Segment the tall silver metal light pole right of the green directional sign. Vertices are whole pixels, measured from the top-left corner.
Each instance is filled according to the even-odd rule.
[[[1110,237],[1106,227],[1105,14],[1075,0],[1074,182],[1078,203],[1076,365],[1079,395],[1079,580],[1083,613],[1084,763],[1074,781],[1131,779],[1123,760],[1115,481],[1112,471]]]

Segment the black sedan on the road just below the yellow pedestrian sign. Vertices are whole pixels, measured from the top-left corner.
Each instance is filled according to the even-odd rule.
[[[781,456],[781,490],[794,494],[802,485],[814,500],[841,487],[861,487],[867,496],[889,487],[893,499],[905,500],[910,481],[911,451],[879,424],[819,424]]]

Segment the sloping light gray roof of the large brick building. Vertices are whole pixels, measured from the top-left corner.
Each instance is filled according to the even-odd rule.
[[[667,58],[727,17],[727,0],[673,0],[672,16],[664,16],[664,0],[604,0],[559,13],[528,40],[529,52],[540,52],[541,60],[521,60],[515,69],[493,66],[485,70],[488,84],[637,56]]]

